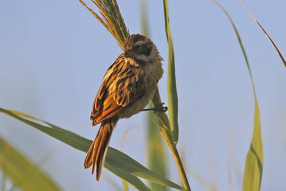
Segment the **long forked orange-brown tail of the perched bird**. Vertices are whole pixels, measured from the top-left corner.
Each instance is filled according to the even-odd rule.
[[[105,156],[108,144],[112,135],[112,131],[116,125],[117,118],[109,118],[104,120],[97,132],[97,135],[88,150],[86,159],[84,160],[84,168],[92,165],[92,174],[96,166],[96,180],[100,180],[102,168],[104,166]]]

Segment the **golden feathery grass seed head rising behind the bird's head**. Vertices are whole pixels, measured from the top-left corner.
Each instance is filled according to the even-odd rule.
[[[104,25],[104,27],[118,41],[120,48],[124,50],[123,44],[125,39],[129,36],[129,31],[120,14],[116,0],[92,0],[100,10],[100,14],[103,18],[98,16],[98,14],[96,14],[82,0],[79,1]]]

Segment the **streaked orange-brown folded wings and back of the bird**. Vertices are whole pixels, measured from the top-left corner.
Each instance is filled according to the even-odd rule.
[[[94,100],[90,117],[93,126],[115,116],[145,95],[144,74],[135,71],[122,62],[116,64],[115,61],[111,65]]]

